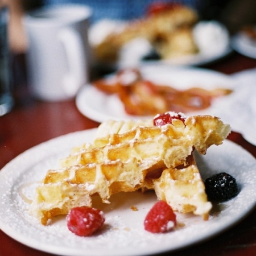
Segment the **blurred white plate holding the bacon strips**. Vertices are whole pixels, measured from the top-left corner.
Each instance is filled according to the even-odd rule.
[[[203,68],[174,68],[168,65],[155,65],[143,66],[140,70],[144,79],[156,82],[156,84],[170,85],[177,89],[188,89],[195,86],[204,89],[235,88],[235,81],[230,76]],[[225,101],[228,97],[230,96],[217,98],[210,108],[189,114],[214,114],[219,102]],[[77,94],[76,105],[82,114],[97,122],[108,119],[142,118],[126,114],[118,96],[109,96],[90,84],[85,85]]]

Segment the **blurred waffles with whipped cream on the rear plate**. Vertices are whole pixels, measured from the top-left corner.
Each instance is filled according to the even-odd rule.
[[[141,19],[101,20],[89,32],[96,63],[203,65],[228,55],[230,37],[216,20],[200,20],[195,10],[172,5]]]

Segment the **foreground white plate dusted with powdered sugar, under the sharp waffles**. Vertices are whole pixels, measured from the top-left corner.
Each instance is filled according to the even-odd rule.
[[[106,222],[102,230],[91,237],[78,237],[69,232],[65,217],[57,218],[49,226],[39,224],[28,214],[29,204],[20,195],[32,198],[36,182],[48,168],[56,168],[71,147],[90,142],[94,133],[95,129],[85,130],[39,144],[1,170],[0,228],[3,232],[24,245],[59,255],[151,255],[208,240],[237,224],[255,207],[256,161],[237,144],[225,141],[210,147],[207,155],[198,156],[197,163],[204,178],[223,171],[236,177],[239,194],[215,205],[208,221],[192,214],[177,214],[177,221],[184,226],[164,234],[146,232],[143,220],[156,202],[155,193],[151,191],[119,193],[111,198],[111,204],[105,205],[96,200],[93,206],[104,210]],[[138,210],[131,210],[131,206]]]

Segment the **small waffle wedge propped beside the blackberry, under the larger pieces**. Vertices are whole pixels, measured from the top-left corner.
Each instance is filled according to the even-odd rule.
[[[193,155],[187,160],[188,166],[163,170],[152,187],[158,199],[166,201],[177,212],[193,212],[208,220],[212,204],[207,199],[204,181]]]

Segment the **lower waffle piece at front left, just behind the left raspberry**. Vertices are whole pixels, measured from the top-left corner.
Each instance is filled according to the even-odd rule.
[[[67,214],[73,207],[90,207],[95,194],[109,203],[114,193],[137,190],[150,166],[150,162],[143,164],[131,158],[126,163],[111,161],[49,170],[36,188],[30,212],[46,225],[49,219]]]

